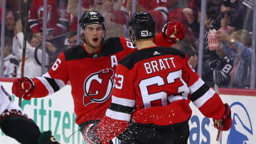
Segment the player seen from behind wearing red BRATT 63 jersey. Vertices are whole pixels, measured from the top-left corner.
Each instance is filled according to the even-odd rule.
[[[85,128],[88,143],[108,143],[127,126],[121,143],[187,143],[191,101],[217,128],[231,127],[230,107],[188,65],[188,56],[159,47],[154,35],[144,35],[154,34],[154,27],[146,12],[135,13],[129,21],[138,50],[119,62],[110,107],[98,127]]]

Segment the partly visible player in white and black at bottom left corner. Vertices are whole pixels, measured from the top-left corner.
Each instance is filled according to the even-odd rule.
[[[36,123],[11,101],[11,95],[0,83],[0,128],[4,134],[22,144],[58,144],[51,131],[41,133]]]

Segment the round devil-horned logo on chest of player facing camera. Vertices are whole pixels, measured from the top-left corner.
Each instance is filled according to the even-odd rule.
[[[112,77],[114,71],[112,69],[101,70],[91,74],[85,79],[83,103],[85,106],[90,103],[102,103],[110,98],[114,82]]]

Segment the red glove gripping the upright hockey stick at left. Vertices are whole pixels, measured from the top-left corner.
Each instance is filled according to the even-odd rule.
[[[15,79],[14,84],[11,88],[12,93],[17,97],[23,97],[23,99],[29,100],[31,99],[30,93],[34,87],[34,83],[32,79],[28,77],[23,77],[22,79]]]

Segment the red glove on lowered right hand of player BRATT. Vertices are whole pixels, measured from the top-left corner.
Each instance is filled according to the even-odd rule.
[[[220,131],[228,131],[232,126],[231,110],[228,104],[224,104],[225,113],[223,118],[220,120],[213,119],[214,127],[218,128]]]

